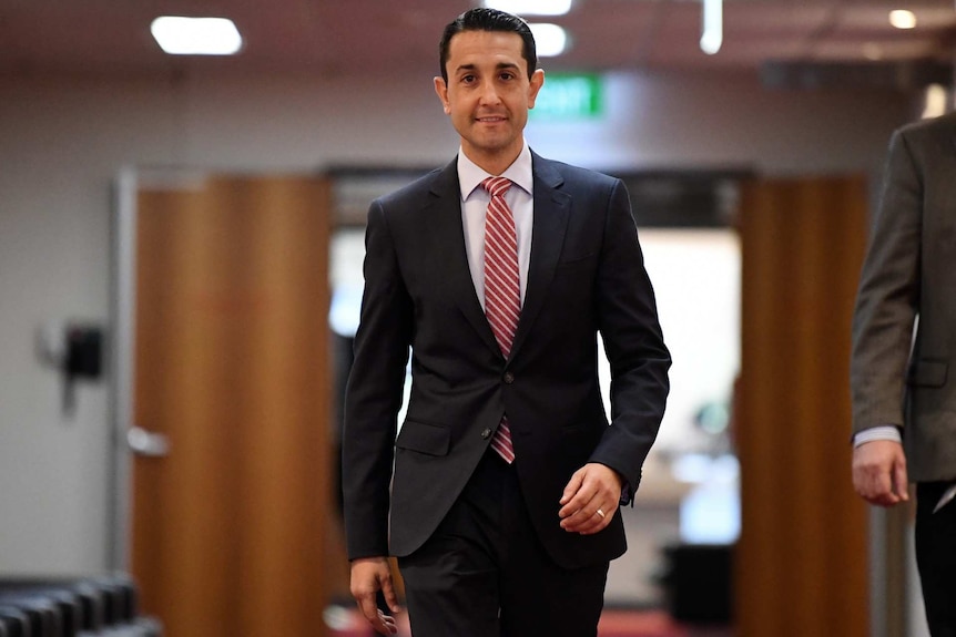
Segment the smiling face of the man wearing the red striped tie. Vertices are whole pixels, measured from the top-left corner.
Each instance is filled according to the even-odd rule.
[[[540,69],[528,80],[521,45],[517,33],[462,31],[448,47],[447,83],[435,78],[465,154],[489,172],[501,162],[504,171],[521,152],[528,110],[545,81]]]

